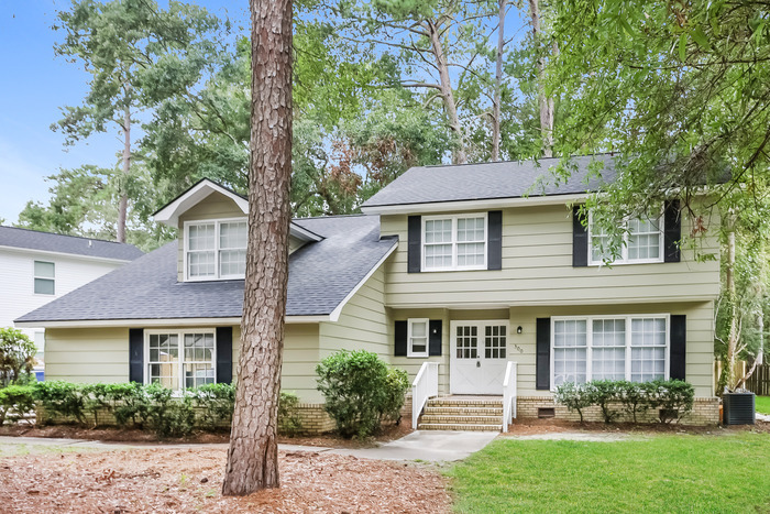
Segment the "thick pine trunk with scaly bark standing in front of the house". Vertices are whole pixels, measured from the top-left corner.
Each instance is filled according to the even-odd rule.
[[[251,23],[249,248],[226,495],[280,485],[276,437],[290,220],[292,1],[251,0]]]

